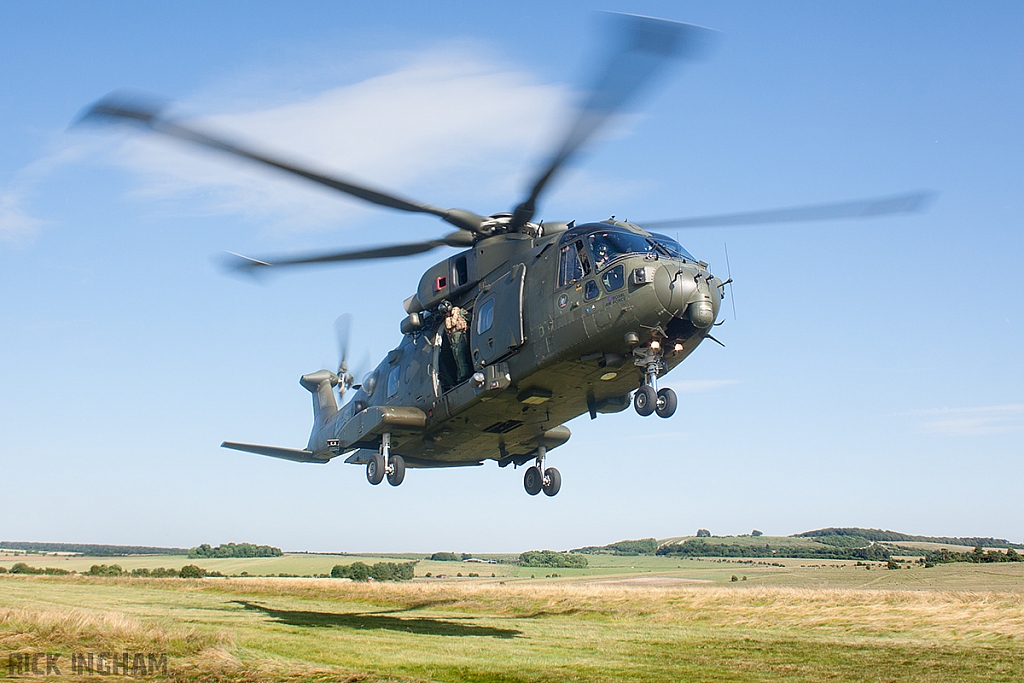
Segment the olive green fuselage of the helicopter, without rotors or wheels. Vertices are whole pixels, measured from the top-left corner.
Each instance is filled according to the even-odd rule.
[[[316,421],[307,450],[317,459],[376,450],[388,431],[391,451],[412,467],[521,464],[538,446],[567,440],[565,422],[625,410],[644,381],[642,356],[649,359],[652,341],[664,351],[664,374],[703,340],[710,323],[688,312],[705,306],[713,322],[722,283],[707,264],[665,254],[620,254],[600,268],[587,263],[589,272],[565,282],[564,246],[594,225],[647,234],[610,221],[540,238],[502,234],[430,268],[412,298],[409,334],[351,400]],[[444,378],[452,347],[441,302],[470,311],[474,376]],[[387,409],[416,409],[408,414],[417,417],[395,418],[393,427],[367,418]],[[352,436],[360,419],[365,438]]]

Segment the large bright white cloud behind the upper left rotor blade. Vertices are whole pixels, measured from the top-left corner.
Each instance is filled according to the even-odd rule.
[[[217,109],[225,113],[189,123],[315,170],[490,213],[519,199],[523,169],[560,132],[569,94],[565,86],[538,83],[469,52],[433,51],[298,101],[241,109],[222,103]],[[156,136],[121,138],[109,160],[144,174],[140,194],[184,197],[209,213],[308,227],[348,222],[355,207],[373,211],[302,179]]]

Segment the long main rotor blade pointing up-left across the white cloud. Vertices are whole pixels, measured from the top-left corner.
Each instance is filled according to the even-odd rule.
[[[160,112],[156,108],[139,101],[132,101],[124,97],[108,95],[105,98],[93,104],[89,111],[82,116],[80,121],[104,119],[109,121],[141,124],[158,133],[175,137],[179,140],[185,140],[186,142],[191,142],[200,146],[218,150],[234,157],[242,157],[243,159],[249,159],[250,161],[254,161],[259,164],[272,166],[273,168],[285,171],[286,173],[292,173],[293,175],[326,185],[332,189],[337,189],[345,193],[346,195],[350,195],[351,197],[370,202],[371,204],[387,207],[389,209],[396,209],[398,211],[431,214],[442,218],[461,229],[477,231],[484,220],[482,216],[478,216],[473,212],[466,211],[464,209],[449,210],[431,206],[429,204],[420,204],[413,202],[412,200],[407,200],[395,195],[381,191],[379,189],[367,187],[366,185],[359,185],[341,180],[340,178],[331,177],[322,173],[315,173],[300,166],[296,166],[280,159],[274,159],[270,156],[246,148],[240,144],[203,133],[189,126],[164,119],[161,117]]]

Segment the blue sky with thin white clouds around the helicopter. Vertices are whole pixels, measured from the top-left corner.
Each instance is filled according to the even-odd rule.
[[[595,10],[720,32],[539,218],[641,222],[927,189],[924,213],[683,230],[736,316],[670,420],[586,416],[555,498],[494,463],[371,486],[304,446],[303,373],[370,369],[451,250],[255,284],[226,252],[439,237],[426,216],[132,131],[130,89],[438,206],[523,197],[607,51]],[[823,526],[1024,541],[1024,6],[1012,2],[0,3],[0,539],[512,552]],[[728,245],[729,263],[725,263]],[[371,362],[372,359],[372,362]]]

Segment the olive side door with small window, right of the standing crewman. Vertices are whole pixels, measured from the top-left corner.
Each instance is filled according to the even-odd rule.
[[[526,341],[523,287],[526,264],[517,263],[484,283],[473,309],[473,365],[480,368],[507,355]]]

